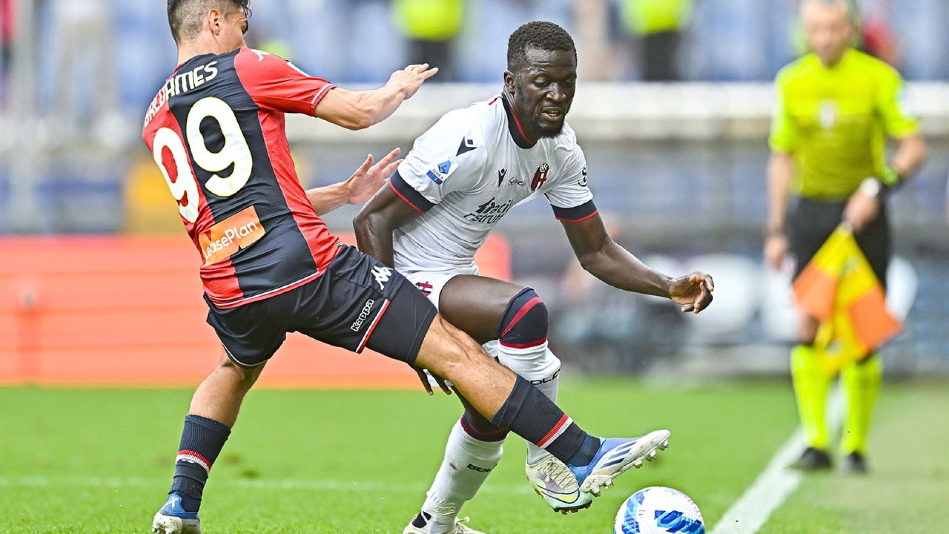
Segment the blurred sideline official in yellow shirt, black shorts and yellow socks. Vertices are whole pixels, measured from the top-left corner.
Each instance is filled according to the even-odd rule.
[[[886,196],[920,166],[926,145],[916,119],[903,107],[900,74],[851,48],[856,12],[850,2],[803,0],[801,18],[811,51],[781,69],[774,84],[764,257],[780,268],[791,252],[797,277],[846,220],[885,287],[891,252]],[[889,162],[887,137],[897,143]],[[800,310],[798,316],[791,377],[808,448],[792,467],[828,469],[825,406],[834,377],[813,346],[817,319]],[[841,375],[847,391],[843,467],[863,473],[866,429],[883,367],[870,353]]]

